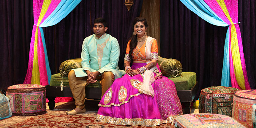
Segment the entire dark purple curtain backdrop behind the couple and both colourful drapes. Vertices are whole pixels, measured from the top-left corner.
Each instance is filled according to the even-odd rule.
[[[107,33],[117,38],[120,44],[119,67],[122,69],[125,48],[132,34],[131,22],[140,14],[142,0],[133,2],[135,4],[128,12],[122,0],[82,0],[60,23],[44,28],[52,74],[59,72],[61,62],[80,58],[82,42],[93,34],[91,24],[96,17],[108,20]],[[184,72],[196,72],[201,89],[219,86],[227,27],[205,22],[179,0],[160,2],[161,56],[179,60]],[[256,89],[255,6],[254,0],[239,1],[239,26],[252,89]],[[6,89],[23,83],[26,76],[33,1],[0,0],[0,18],[0,89]]]

